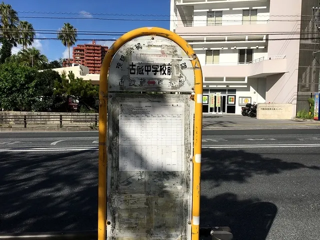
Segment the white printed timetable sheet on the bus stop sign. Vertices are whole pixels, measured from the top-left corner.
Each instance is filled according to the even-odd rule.
[[[184,169],[184,103],[123,102],[120,108],[120,171]]]

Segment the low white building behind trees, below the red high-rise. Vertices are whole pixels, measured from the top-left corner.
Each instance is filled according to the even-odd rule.
[[[63,71],[65,71],[66,74],[68,74],[69,71],[72,71],[75,77],[81,77],[83,80],[91,80],[94,85],[99,84],[100,74],[89,73],[89,68],[81,64],[72,63],[71,66],[53,68],[52,70],[57,71],[59,74]]]

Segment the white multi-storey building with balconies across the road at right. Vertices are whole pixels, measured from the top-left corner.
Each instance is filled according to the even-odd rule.
[[[203,112],[239,114],[247,102],[291,103],[292,116],[308,110],[319,81],[319,1],[170,4],[170,30],[193,47],[201,63]],[[209,93],[220,95],[220,102],[215,96],[210,103]]]

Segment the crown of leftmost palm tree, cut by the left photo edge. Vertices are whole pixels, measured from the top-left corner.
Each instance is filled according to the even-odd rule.
[[[19,18],[17,12],[12,8],[10,4],[5,4],[3,1],[0,3],[0,37],[6,38],[9,42],[17,45],[17,24]]]

